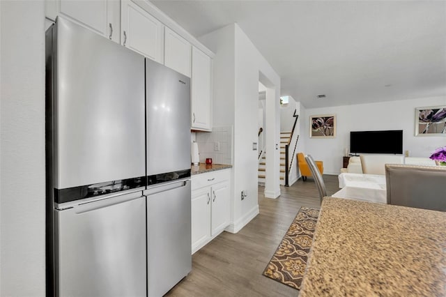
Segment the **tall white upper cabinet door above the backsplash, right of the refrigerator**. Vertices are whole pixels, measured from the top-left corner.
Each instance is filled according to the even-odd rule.
[[[192,47],[191,111],[192,128],[211,130],[210,100],[212,98],[212,59],[196,47]]]

